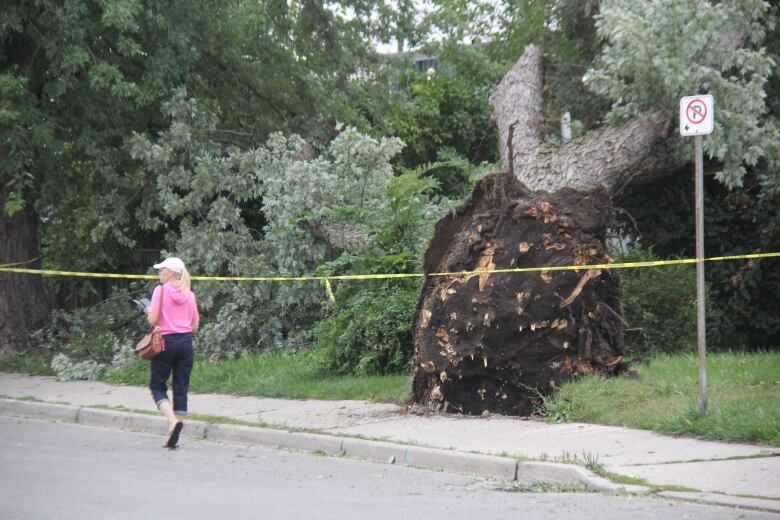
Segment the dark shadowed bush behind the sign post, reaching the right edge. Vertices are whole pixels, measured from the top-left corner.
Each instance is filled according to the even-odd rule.
[[[687,170],[686,170],[687,171]],[[780,246],[780,191],[751,173],[742,188],[729,190],[711,177],[704,180],[706,256],[732,256],[777,251]],[[695,256],[694,201],[689,174],[623,193],[616,205],[621,226],[652,245],[662,257]],[[659,211],[663,208],[663,211]],[[718,309],[717,328],[724,349],[777,350],[780,346],[780,259],[708,262],[707,281]],[[710,317],[707,317],[710,321]],[[713,321],[714,323],[714,321]],[[709,342],[708,342],[709,343]]]

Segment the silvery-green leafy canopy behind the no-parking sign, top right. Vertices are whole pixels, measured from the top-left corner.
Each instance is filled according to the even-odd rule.
[[[709,93],[716,130],[704,149],[723,164],[719,180],[739,186],[746,167],[778,158],[780,131],[766,117],[777,60],[762,46],[774,27],[767,2],[605,0],[596,27],[604,46],[586,80],[612,102],[613,122]]]

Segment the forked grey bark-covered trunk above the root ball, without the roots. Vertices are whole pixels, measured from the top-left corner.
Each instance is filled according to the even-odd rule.
[[[525,52],[496,87],[492,103],[499,128],[501,160],[509,165],[509,128],[515,125],[512,157],[515,177],[532,190],[562,187],[610,194],[629,183],[651,182],[679,166],[670,135],[670,113],[656,108],[619,127],[605,127],[562,146],[542,136],[542,52]]]

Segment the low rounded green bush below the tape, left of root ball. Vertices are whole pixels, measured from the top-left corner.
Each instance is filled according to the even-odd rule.
[[[407,372],[412,359],[412,315],[419,294],[416,283],[381,284],[355,293],[341,310],[314,328],[317,345],[327,350],[323,368],[355,375]]]

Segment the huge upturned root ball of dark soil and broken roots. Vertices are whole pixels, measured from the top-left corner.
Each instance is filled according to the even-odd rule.
[[[436,226],[425,272],[578,270],[426,277],[413,321],[417,403],[529,415],[561,382],[612,374],[623,353],[620,285],[605,246],[606,190],[532,192],[484,177]]]

